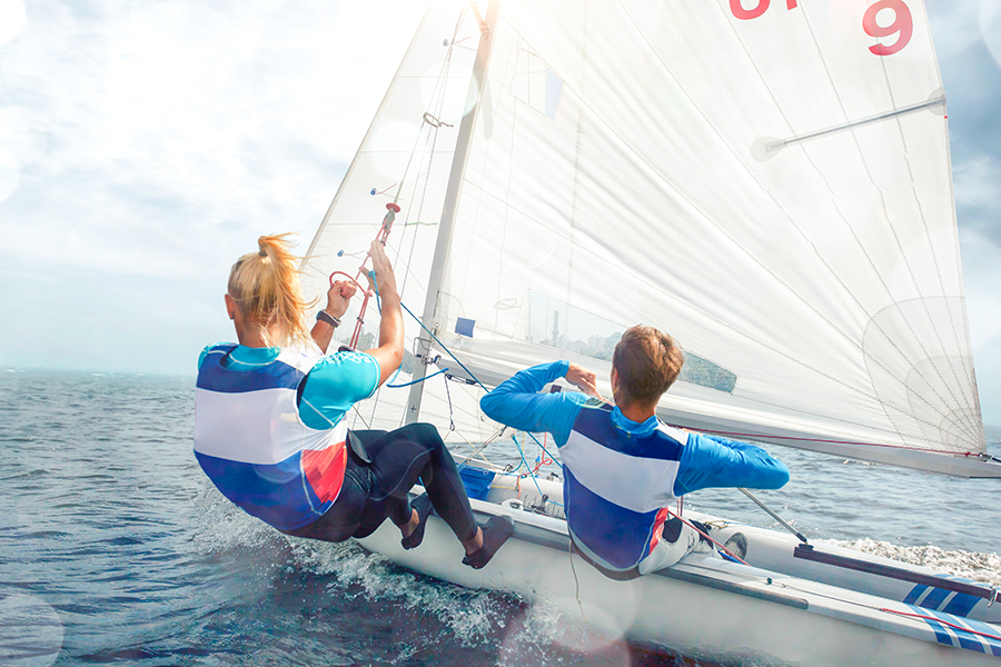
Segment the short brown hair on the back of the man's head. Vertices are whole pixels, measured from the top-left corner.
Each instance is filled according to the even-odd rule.
[[[612,355],[621,400],[626,405],[655,404],[681,372],[685,356],[666,334],[637,325],[622,335]]]

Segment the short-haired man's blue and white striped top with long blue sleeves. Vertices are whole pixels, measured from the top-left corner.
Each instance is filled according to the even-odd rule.
[[[643,424],[573,391],[538,394],[568,361],[523,370],[480,400],[492,419],[553,435],[564,462],[564,502],[575,544],[604,567],[626,570],[650,555],[675,498],[711,487],[776,489],[789,469],[761,447]]]

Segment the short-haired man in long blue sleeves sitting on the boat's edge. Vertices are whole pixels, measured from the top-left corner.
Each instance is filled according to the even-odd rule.
[[[612,406],[596,398],[595,375],[554,361],[517,372],[480,400],[483,411],[513,428],[548,431],[564,464],[564,506],[574,547],[605,575],[631,578],[677,563],[698,534],[667,506],[710,487],[777,489],[782,461],[754,445],[687,432],[656,417],[684,355],[666,334],[636,326],[612,356]],[[538,394],[564,377],[584,394]],[[665,527],[666,521],[666,527]]]

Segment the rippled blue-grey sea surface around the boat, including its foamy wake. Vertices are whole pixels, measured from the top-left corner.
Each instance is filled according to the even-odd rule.
[[[211,487],[192,427],[191,378],[0,369],[0,665],[693,664],[286,538]],[[770,449],[792,481],[759,497],[812,541],[1001,585],[1001,481]],[[686,507],[772,525],[735,490]]]

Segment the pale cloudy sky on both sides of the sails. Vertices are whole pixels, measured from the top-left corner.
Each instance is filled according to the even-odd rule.
[[[809,1],[809,0],[807,0]],[[926,0],[1001,424],[1001,0]],[[309,241],[419,0],[0,0],[0,369],[194,375],[232,261]]]

